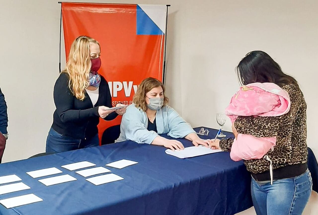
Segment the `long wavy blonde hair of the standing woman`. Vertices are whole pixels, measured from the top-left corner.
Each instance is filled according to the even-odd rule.
[[[91,70],[90,43],[99,43],[88,36],[77,37],[70,49],[66,67],[62,72],[69,75],[68,87],[73,95],[79,99],[85,99],[85,89],[88,87],[89,72]]]

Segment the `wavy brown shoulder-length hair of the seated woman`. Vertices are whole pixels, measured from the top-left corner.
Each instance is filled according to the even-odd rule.
[[[133,102],[135,107],[142,109],[143,111],[147,110],[147,103],[146,103],[146,94],[152,90],[153,88],[161,87],[163,90],[163,106],[167,105],[169,99],[165,96],[165,88],[161,81],[156,78],[146,78],[142,80],[140,85],[137,88],[137,92],[134,95]]]

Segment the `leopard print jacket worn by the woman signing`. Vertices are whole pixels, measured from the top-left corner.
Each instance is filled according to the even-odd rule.
[[[255,137],[276,136],[274,150],[267,155],[273,162],[273,169],[307,162],[307,104],[300,88],[295,84],[282,87],[290,97],[291,107],[287,114],[276,117],[239,116],[235,128],[240,134],[251,134]],[[233,139],[220,141],[220,148],[230,151]],[[262,173],[269,170],[270,162],[262,159],[244,160],[249,172]]]

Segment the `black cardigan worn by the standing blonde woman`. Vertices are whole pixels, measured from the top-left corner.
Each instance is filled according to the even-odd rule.
[[[55,82],[52,128],[60,134],[76,139],[88,139],[98,133],[99,106],[112,107],[112,97],[108,83],[101,76],[98,100],[93,107],[90,97],[86,94],[83,101],[77,99],[68,87],[68,74],[63,72]],[[118,114],[109,114],[105,120],[113,120]]]

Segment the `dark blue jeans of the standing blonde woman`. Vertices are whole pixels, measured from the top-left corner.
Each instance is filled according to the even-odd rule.
[[[98,134],[87,140],[66,137],[56,132],[52,127],[46,138],[45,152],[47,154],[67,152],[75,149],[88,148],[99,145]]]

